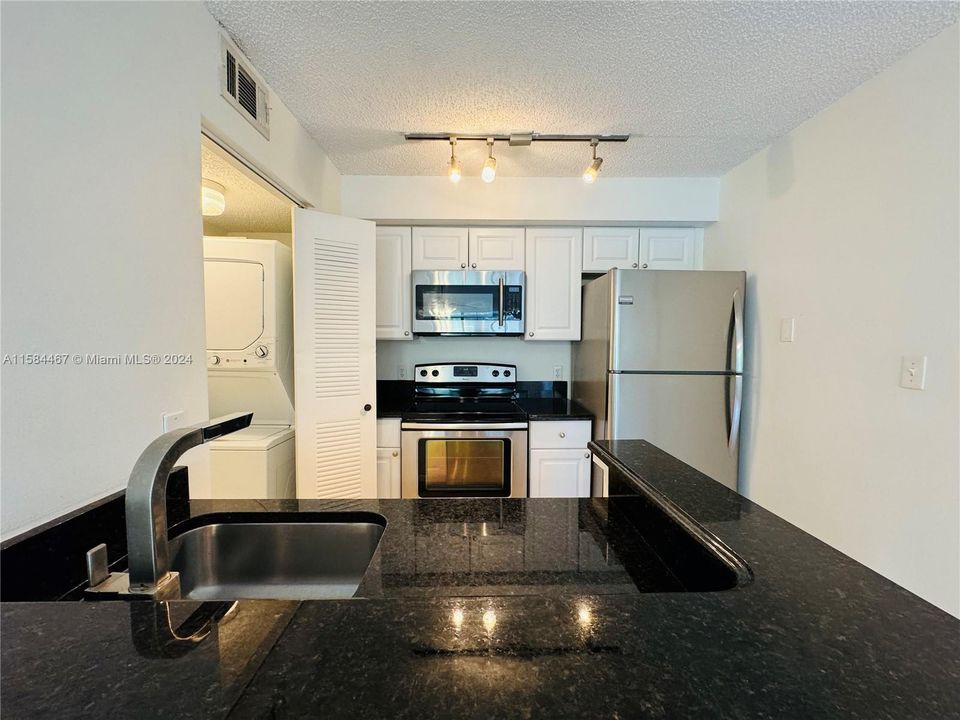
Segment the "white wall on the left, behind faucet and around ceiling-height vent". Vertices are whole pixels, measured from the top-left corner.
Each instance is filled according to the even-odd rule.
[[[123,487],[162,412],[207,415],[201,123],[339,209],[277,97],[269,142],[220,97],[219,47],[200,3],[2,6],[2,353],[194,358],[3,366],[5,538]]]

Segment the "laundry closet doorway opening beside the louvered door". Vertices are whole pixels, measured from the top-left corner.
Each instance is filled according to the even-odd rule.
[[[210,416],[252,411],[210,445],[212,498],[296,497],[292,210],[206,135],[200,141]]]

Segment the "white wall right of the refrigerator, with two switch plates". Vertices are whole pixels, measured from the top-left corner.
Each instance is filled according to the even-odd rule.
[[[705,243],[749,272],[746,494],[954,615],[957,47],[954,26],[726,175]],[[929,357],[925,391],[901,355]]]

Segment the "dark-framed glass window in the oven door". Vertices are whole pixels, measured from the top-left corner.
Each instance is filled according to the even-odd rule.
[[[510,441],[420,441],[420,495],[510,495]]]

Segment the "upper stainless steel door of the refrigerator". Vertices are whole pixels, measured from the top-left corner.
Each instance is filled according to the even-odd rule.
[[[610,369],[743,371],[743,272],[614,270]]]

